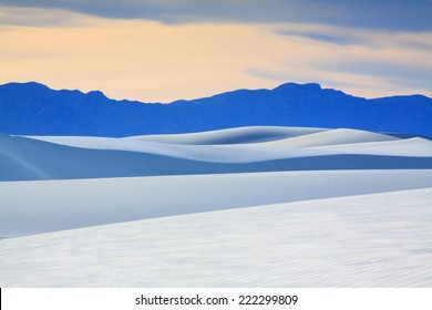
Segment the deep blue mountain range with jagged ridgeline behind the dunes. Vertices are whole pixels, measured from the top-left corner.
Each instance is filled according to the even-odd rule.
[[[0,85],[0,132],[16,135],[131,136],[239,126],[356,128],[432,136],[432,99],[363,99],[319,84],[237,90],[169,104],[116,101],[100,91]]]

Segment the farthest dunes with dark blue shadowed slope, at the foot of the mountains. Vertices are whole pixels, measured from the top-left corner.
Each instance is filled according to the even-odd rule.
[[[264,132],[261,137],[272,142],[246,143],[251,136],[259,136],[259,131]],[[199,136],[203,143],[216,140],[227,143],[228,134],[233,134],[230,142],[239,142],[219,145],[162,143],[146,141],[145,136],[29,138],[0,135],[0,180],[432,168],[432,142],[428,140],[400,140],[352,130],[310,131],[245,127],[186,135],[187,138]],[[297,136],[286,138],[288,134]],[[160,140],[164,137],[175,138],[171,135]],[[294,146],[296,144],[304,146]]]

